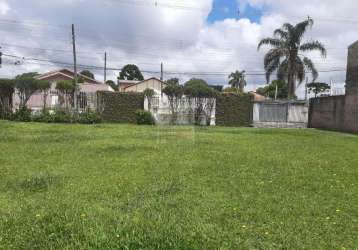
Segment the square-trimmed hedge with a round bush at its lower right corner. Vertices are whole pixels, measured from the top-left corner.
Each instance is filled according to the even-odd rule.
[[[107,122],[136,123],[136,111],[144,108],[142,93],[100,91],[97,95],[99,112]]]

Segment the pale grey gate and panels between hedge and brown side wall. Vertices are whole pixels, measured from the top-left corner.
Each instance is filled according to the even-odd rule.
[[[254,127],[305,128],[308,123],[308,104],[305,101],[255,102]]]

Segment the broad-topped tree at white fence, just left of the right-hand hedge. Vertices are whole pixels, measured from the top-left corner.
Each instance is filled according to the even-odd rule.
[[[190,107],[194,108],[195,124],[200,125],[200,119],[204,116],[206,124],[210,125],[217,91],[204,80],[193,78],[185,83],[184,94],[189,98]]]

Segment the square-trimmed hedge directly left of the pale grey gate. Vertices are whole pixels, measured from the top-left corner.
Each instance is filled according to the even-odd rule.
[[[252,123],[253,96],[222,93],[216,99],[216,125],[248,127]]]

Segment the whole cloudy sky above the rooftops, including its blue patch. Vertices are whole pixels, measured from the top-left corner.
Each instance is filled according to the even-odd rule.
[[[20,57],[4,57],[0,77],[71,67],[74,23],[78,63],[100,80],[107,51],[113,80],[128,63],[159,76],[163,62],[165,78],[220,85],[229,72],[246,70],[252,90],[265,83],[258,41],[310,16],[315,25],[306,40],[328,49],[326,59],[309,55],[319,80],[344,82],[347,47],[358,40],[357,9],[356,0],[0,0],[2,52]]]

